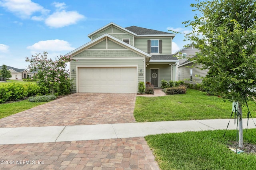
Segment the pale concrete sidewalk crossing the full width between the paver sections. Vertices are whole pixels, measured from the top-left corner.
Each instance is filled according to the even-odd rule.
[[[226,129],[228,121],[229,119],[209,119],[98,125],[7,127],[0,128],[0,145],[118,139],[144,137],[161,133]],[[256,118],[254,122],[256,122]],[[247,119],[244,119],[244,129],[246,126]],[[252,119],[249,119],[248,128],[255,128]],[[234,119],[230,120],[228,129],[236,129]]]

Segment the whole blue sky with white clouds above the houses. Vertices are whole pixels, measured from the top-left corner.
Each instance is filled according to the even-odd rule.
[[[114,22],[158,31],[189,32],[183,21],[196,14],[194,0],[0,0],[0,65],[26,68],[26,57],[54,59],[88,43],[96,29]],[[173,39],[172,52],[189,42]]]

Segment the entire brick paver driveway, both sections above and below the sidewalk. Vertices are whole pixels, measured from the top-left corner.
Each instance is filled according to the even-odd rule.
[[[135,100],[76,93],[0,119],[0,128],[132,123]],[[143,137],[0,145],[0,162],[6,170],[159,170]]]

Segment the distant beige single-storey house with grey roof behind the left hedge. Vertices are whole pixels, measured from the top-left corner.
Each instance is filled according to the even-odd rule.
[[[0,70],[2,69],[2,66],[0,66]],[[7,66],[7,70],[9,70],[12,74],[12,77],[9,78],[10,80],[22,80],[22,78],[31,78],[34,76],[35,72],[30,72],[26,68],[14,68],[11,66]]]

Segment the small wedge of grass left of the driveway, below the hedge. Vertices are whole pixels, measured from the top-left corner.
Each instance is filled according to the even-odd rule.
[[[0,119],[13,115],[15,113],[19,113],[21,111],[31,109],[32,107],[39,106],[41,104],[45,104],[47,102],[28,102],[28,100],[23,100],[20,102],[12,102],[7,104],[0,104]]]

